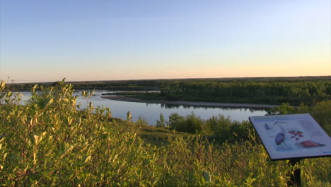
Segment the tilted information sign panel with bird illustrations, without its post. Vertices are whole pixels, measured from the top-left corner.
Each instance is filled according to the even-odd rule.
[[[308,114],[250,117],[272,160],[331,156],[331,138]]]

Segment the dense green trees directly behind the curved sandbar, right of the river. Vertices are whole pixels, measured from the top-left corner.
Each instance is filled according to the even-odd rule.
[[[303,102],[312,105],[318,101],[331,99],[331,79],[166,81],[163,82],[161,93],[153,96],[171,101],[291,103],[294,106]]]

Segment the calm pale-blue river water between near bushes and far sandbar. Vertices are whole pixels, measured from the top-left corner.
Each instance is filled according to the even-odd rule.
[[[156,125],[156,120],[160,118],[160,113],[164,115],[165,120],[168,120],[171,113],[178,113],[185,116],[194,113],[203,120],[211,118],[213,115],[224,115],[231,120],[243,121],[248,120],[249,116],[265,115],[267,111],[263,109],[252,108],[219,108],[219,107],[197,107],[197,106],[168,106],[162,104],[151,103],[134,103],[127,101],[114,101],[106,98],[101,98],[101,94],[109,91],[95,91],[90,101],[93,106],[105,106],[112,111],[114,118],[127,118],[127,112],[132,113],[132,118],[137,121],[139,118],[144,118],[149,125]],[[22,92],[23,101],[27,101],[31,94],[29,92]],[[86,100],[80,96],[80,92],[75,92],[78,95],[77,103],[81,103],[81,108],[86,107]]]

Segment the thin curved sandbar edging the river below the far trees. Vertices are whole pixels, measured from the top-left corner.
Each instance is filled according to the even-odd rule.
[[[128,98],[125,96],[101,96],[115,101],[127,101],[136,103],[154,103],[181,106],[209,106],[209,107],[233,107],[233,108],[274,108],[278,105],[250,104],[250,103],[212,103],[195,101],[165,101],[165,100],[146,100],[141,98]]]

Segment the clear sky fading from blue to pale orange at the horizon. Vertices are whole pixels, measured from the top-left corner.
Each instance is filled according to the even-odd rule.
[[[330,0],[0,0],[0,79],[330,75],[330,9]]]

